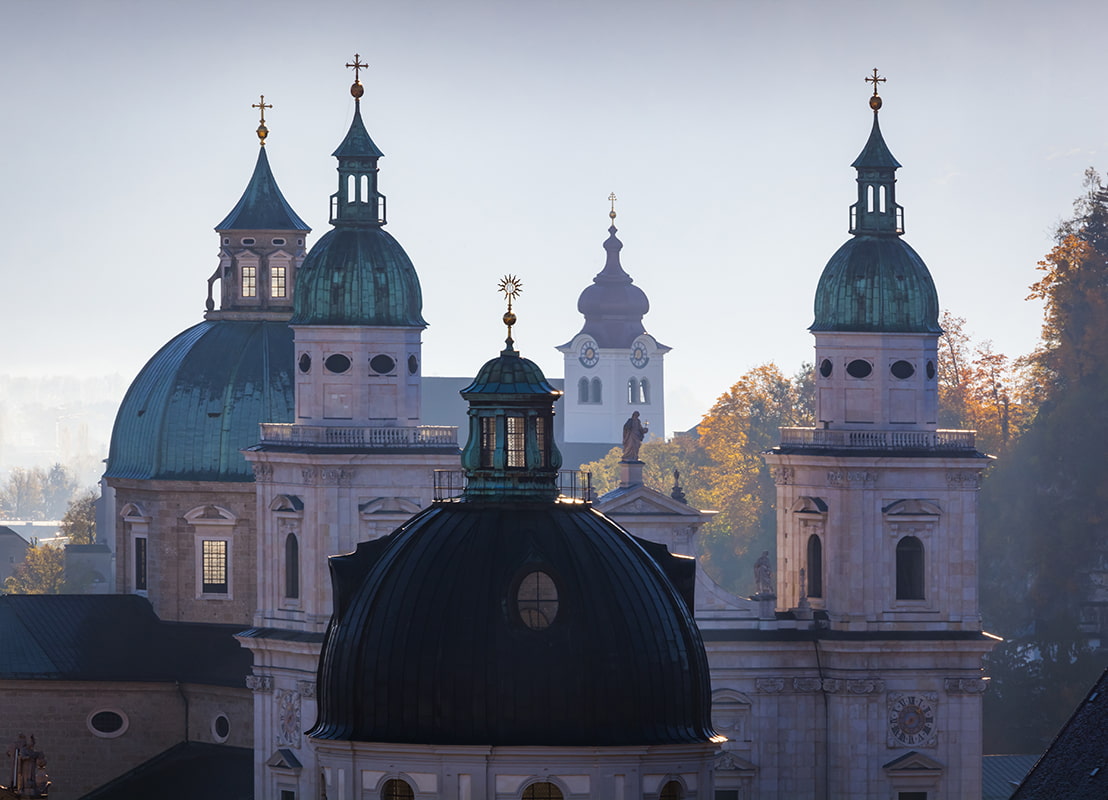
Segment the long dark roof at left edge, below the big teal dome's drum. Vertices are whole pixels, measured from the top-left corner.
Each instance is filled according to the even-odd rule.
[[[0,595],[0,678],[243,686],[240,627],[165,623],[137,595]]]

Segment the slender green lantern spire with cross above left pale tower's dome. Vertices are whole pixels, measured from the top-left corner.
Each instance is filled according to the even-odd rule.
[[[353,98],[353,120],[346,139],[331,155],[338,158],[339,191],[331,195],[331,225],[381,226],[384,215],[384,195],[377,191],[377,160],[384,155],[373,144],[366,124],[361,121],[361,98],[366,93],[359,78],[366,64],[358,53],[347,66],[355,71],[350,95]]]

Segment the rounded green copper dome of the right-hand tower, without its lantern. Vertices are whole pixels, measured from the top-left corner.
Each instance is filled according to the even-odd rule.
[[[927,266],[897,236],[855,236],[820,276],[810,330],[941,334]]]

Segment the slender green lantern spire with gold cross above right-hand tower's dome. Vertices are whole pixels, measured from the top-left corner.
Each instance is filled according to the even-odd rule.
[[[904,233],[904,209],[896,205],[896,170],[900,163],[893,157],[881,135],[878,112],[881,95],[878,84],[885,79],[873,75],[865,79],[873,84],[870,107],[873,109],[873,129],[862,152],[851,164],[858,170],[858,202],[850,207],[850,233],[854,235],[892,235]]]

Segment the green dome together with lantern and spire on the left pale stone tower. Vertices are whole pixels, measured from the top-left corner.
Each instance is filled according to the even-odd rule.
[[[377,161],[383,153],[361,121],[360,81],[351,88],[353,120],[332,154],[339,186],[331,195],[334,228],[297,274],[293,325],[425,327],[419,277],[403,247],[387,234]]]

